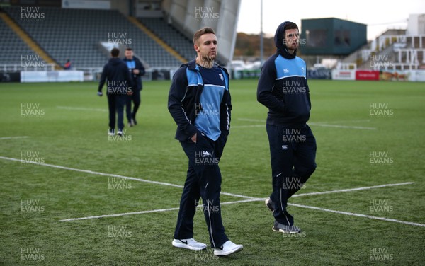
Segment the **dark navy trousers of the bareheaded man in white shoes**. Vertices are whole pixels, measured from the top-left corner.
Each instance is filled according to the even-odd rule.
[[[193,216],[198,207],[205,216],[211,247],[221,247],[229,240],[222,224],[220,208],[222,176],[218,167],[226,141],[225,134],[212,141],[198,131],[196,144],[191,140],[181,142],[183,151],[188,156],[189,166],[174,238],[193,238]],[[198,206],[200,197],[203,206]]]

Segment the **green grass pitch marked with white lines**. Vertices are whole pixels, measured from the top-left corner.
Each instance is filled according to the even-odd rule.
[[[231,81],[222,192],[246,197],[221,197],[232,202],[227,235],[244,245],[228,258],[171,246],[172,184],[183,185],[187,159],[169,84],[144,83],[139,125],[121,139],[107,136],[96,83],[0,84],[0,265],[425,264],[424,83],[310,81],[317,170],[297,195],[347,191],[291,198],[303,232],[287,236],[271,231],[261,200],[234,203],[268,197],[271,168],[256,81]],[[202,212],[195,237],[209,245]]]

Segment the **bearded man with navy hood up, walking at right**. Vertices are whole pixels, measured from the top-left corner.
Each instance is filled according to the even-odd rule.
[[[300,33],[295,23],[279,25],[277,52],[263,64],[257,100],[268,108],[266,129],[271,154],[273,192],[266,205],[273,212],[273,231],[299,233],[287,211],[288,199],[316,169],[316,140],[306,122],[310,118],[307,68],[297,57]]]

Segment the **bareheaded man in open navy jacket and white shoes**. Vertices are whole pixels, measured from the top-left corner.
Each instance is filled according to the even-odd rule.
[[[193,35],[193,47],[196,60],[176,71],[169,91],[168,107],[177,124],[176,139],[189,161],[172,245],[190,250],[206,248],[193,238],[193,216],[202,197],[211,247],[215,255],[223,256],[243,248],[227,238],[220,209],[222,176],[218,163],[229,134],[232,110],[229,74],[215,62],[217,37],[212,28],[198,30]]]

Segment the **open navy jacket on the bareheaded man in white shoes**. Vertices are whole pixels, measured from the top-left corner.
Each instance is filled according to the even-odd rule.
[[[227,76],[228,88],[229,74],[225,68],[223,73]],[[190,82],[188,81],[190,79]],[[182,64],[173,76],[169,91],[168,108],[177,124],[176,139],[187,141],[198,132],[195,126],[197,114],[202,110],[200,94],[203,92],[203,79],[196,67],[196,60]],[[230,112],[232,104],[229,90],[225,90],[220,103],[220,131],[226,136],[230,131]]]

